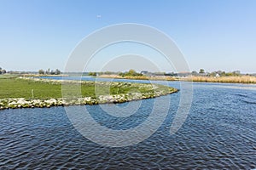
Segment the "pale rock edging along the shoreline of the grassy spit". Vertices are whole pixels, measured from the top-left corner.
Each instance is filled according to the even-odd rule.
[[[64,81],[64,80],[51,80],[51,79],[39,79],[39,78],[27,78],[20,77],[25,80],[32,80],[35,82],[49,82],[49,83],[78,83],[79,81]],[[86,83],[84,81],[80,81],[80,83]],[[89,82],[91,83],[91,82]],[[109,82],[98,82],[101,84],[109,84]],[[133,82],[111,82],[116,85],[127,85],[127,84],[136,84]],[[148,84],[152,86],[152,84]],[[141,84],[141,86],[147,86],[147,84]],[[154,88],[158,88],[157,84],[153,84]],[[160,85],[159,85],[160,86]],[[5,109],[19,109],[19,108],[49,108],[52,106],[68,106],[68,105],[101,105],[101,104],[118,104],[125,103],[133,100],[139,99],[151,99],[160,97],[167,94],[177,93],[178,89],[176,88],[168,88],[167,91],[164,90],[154,90],[153,92],[146,93],[128,93],[128,94],[108,94],[108,95],[99,95],[96,97],[83,97],[83,98],[71,98],[71,99],[25,99],[25,98],[11,98],[11,99],[0,99],[0,110]]]

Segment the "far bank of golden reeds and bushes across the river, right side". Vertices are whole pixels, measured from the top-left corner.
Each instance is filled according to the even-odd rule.
[[[201,69],[199,72],[192,71],[183,73],[150,73],[142,71],[138,73],[134,70],[127,72],[90,72],[89,76],[101,78],[120,78],[135,80],[163,80],[163,81],[188,81],[188,82],[227,82],[227,83],[256,83],[256,77],[253,75],[243,75],[240,71],[212,71],[205,72]]]

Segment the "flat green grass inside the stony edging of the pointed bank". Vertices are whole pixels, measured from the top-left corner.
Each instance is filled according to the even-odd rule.
[[[79,86],[76,88],[76,86]],[[163,85],[127,83],[127,82],[82,82],[70,83],[65,86],[68,93],[76,97],[96,97],[96,95],[127,94],[132,92],[154,93],[157,91],[172,91]],[[70,87],[68,87],[70,86]],[[157,86],[156,88],[154,86]],[[154,88],[153,88],[154,87]],[[79,89],[79,93],[77,93]],[[80,93],[81,92],[81,93]],[[16,77],[0,76],[0,99],[25,98],[25,99],[59,99],[62,98],[61,82],[44,82],[20,79]]]

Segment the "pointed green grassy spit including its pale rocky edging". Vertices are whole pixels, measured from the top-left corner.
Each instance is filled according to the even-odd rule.
[[[62,83],[72,97],[62,97]],[[80,93],[73,87],[79,85]],[[89,82],[31,77],[0,77],[0,110],[63,105],[124,103],[176,93],[176,88],[133,82]]]

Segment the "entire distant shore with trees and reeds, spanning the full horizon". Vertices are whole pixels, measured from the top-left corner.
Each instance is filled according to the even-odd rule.
[[[256,83],[255,74],[242,74],[240,71],[212,71],[207,72],[200,69],[192,72],[149,72],[135,70],[125,72],[99,71],[99,72],[61,72],[55,70],[39,70],[37,71],[5,71],[0,67],[0,75],[7,77],[68,77],[68,76],[90,76],[100,78],[119,78],[132,80],[156,80],[156,81],[188,81],[188,82],[227,82],[227,83]],[[1,77],[0,77],[1,78]]]

